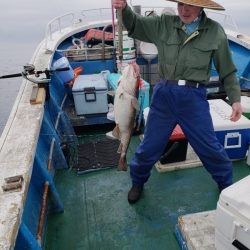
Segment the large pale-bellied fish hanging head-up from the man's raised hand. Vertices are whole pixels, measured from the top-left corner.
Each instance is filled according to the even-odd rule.
[[[117,153],[120,154],[118,170],[127,171],[127,150],[136,124],[136,114],[140,110],[138,102],[140,68],[135,62],[129,63],[122,71],[114,98],[116,126],[112,135],[120,140]]]

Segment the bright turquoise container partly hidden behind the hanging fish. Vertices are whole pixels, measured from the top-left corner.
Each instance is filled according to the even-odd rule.
[[[109,86],[112,90],[117,89],[117,84],[118,84],[120,77],[121,77],[121,75],[117,74],[117,73],[110,73],[107,75],[107,80],[108,80]],[[143,102],[142,110],[149,107],[149,89],[150,89],[149,83],[147,83],[144,80],[143,80],[143,86],[145,88],[143,88],[139,91],[139,97],[138,97],[139,103]],[[144,93],[144,91],[145,91],[145,93]]]

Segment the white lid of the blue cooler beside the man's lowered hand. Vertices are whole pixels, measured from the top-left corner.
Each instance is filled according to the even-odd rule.
[[[230,121],[232,107],[221,99],[208,100],[215,131],[249,129],[250,120],[241,116],[237,122]]]

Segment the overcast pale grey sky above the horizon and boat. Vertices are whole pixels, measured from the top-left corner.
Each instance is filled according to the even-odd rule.
[[[110,7],[111,0],[14,0],[1,1],[0,3],[0,42],[13,42],[13,36],[19,34],[19,41],[31,36],[30,39],[36,39],[39,36],[43,38],[45,25],[56,16],[63,15],[67,12],[74,12],[81,9],[90,9],[98,7]],[[133,5],[144,4],[150,5],[152,0],[128,0]],[[226,8],[225,13],[230,14],[238,24],[241,32],[250,35],[250,19],[248,17],[250,10],[249,0],[218,0],[219,4]],[[165,0],[154,0],[154,5],[176,6]],[[36,28],[37,27],[37,28]],[[1,46],[1,45],[0,45]]]

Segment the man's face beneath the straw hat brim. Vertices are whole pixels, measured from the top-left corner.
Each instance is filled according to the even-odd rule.
[[[184,3],[178,3],[178,13],[181,21],[185,24],[192,23],[201,12],[201,7]]]

